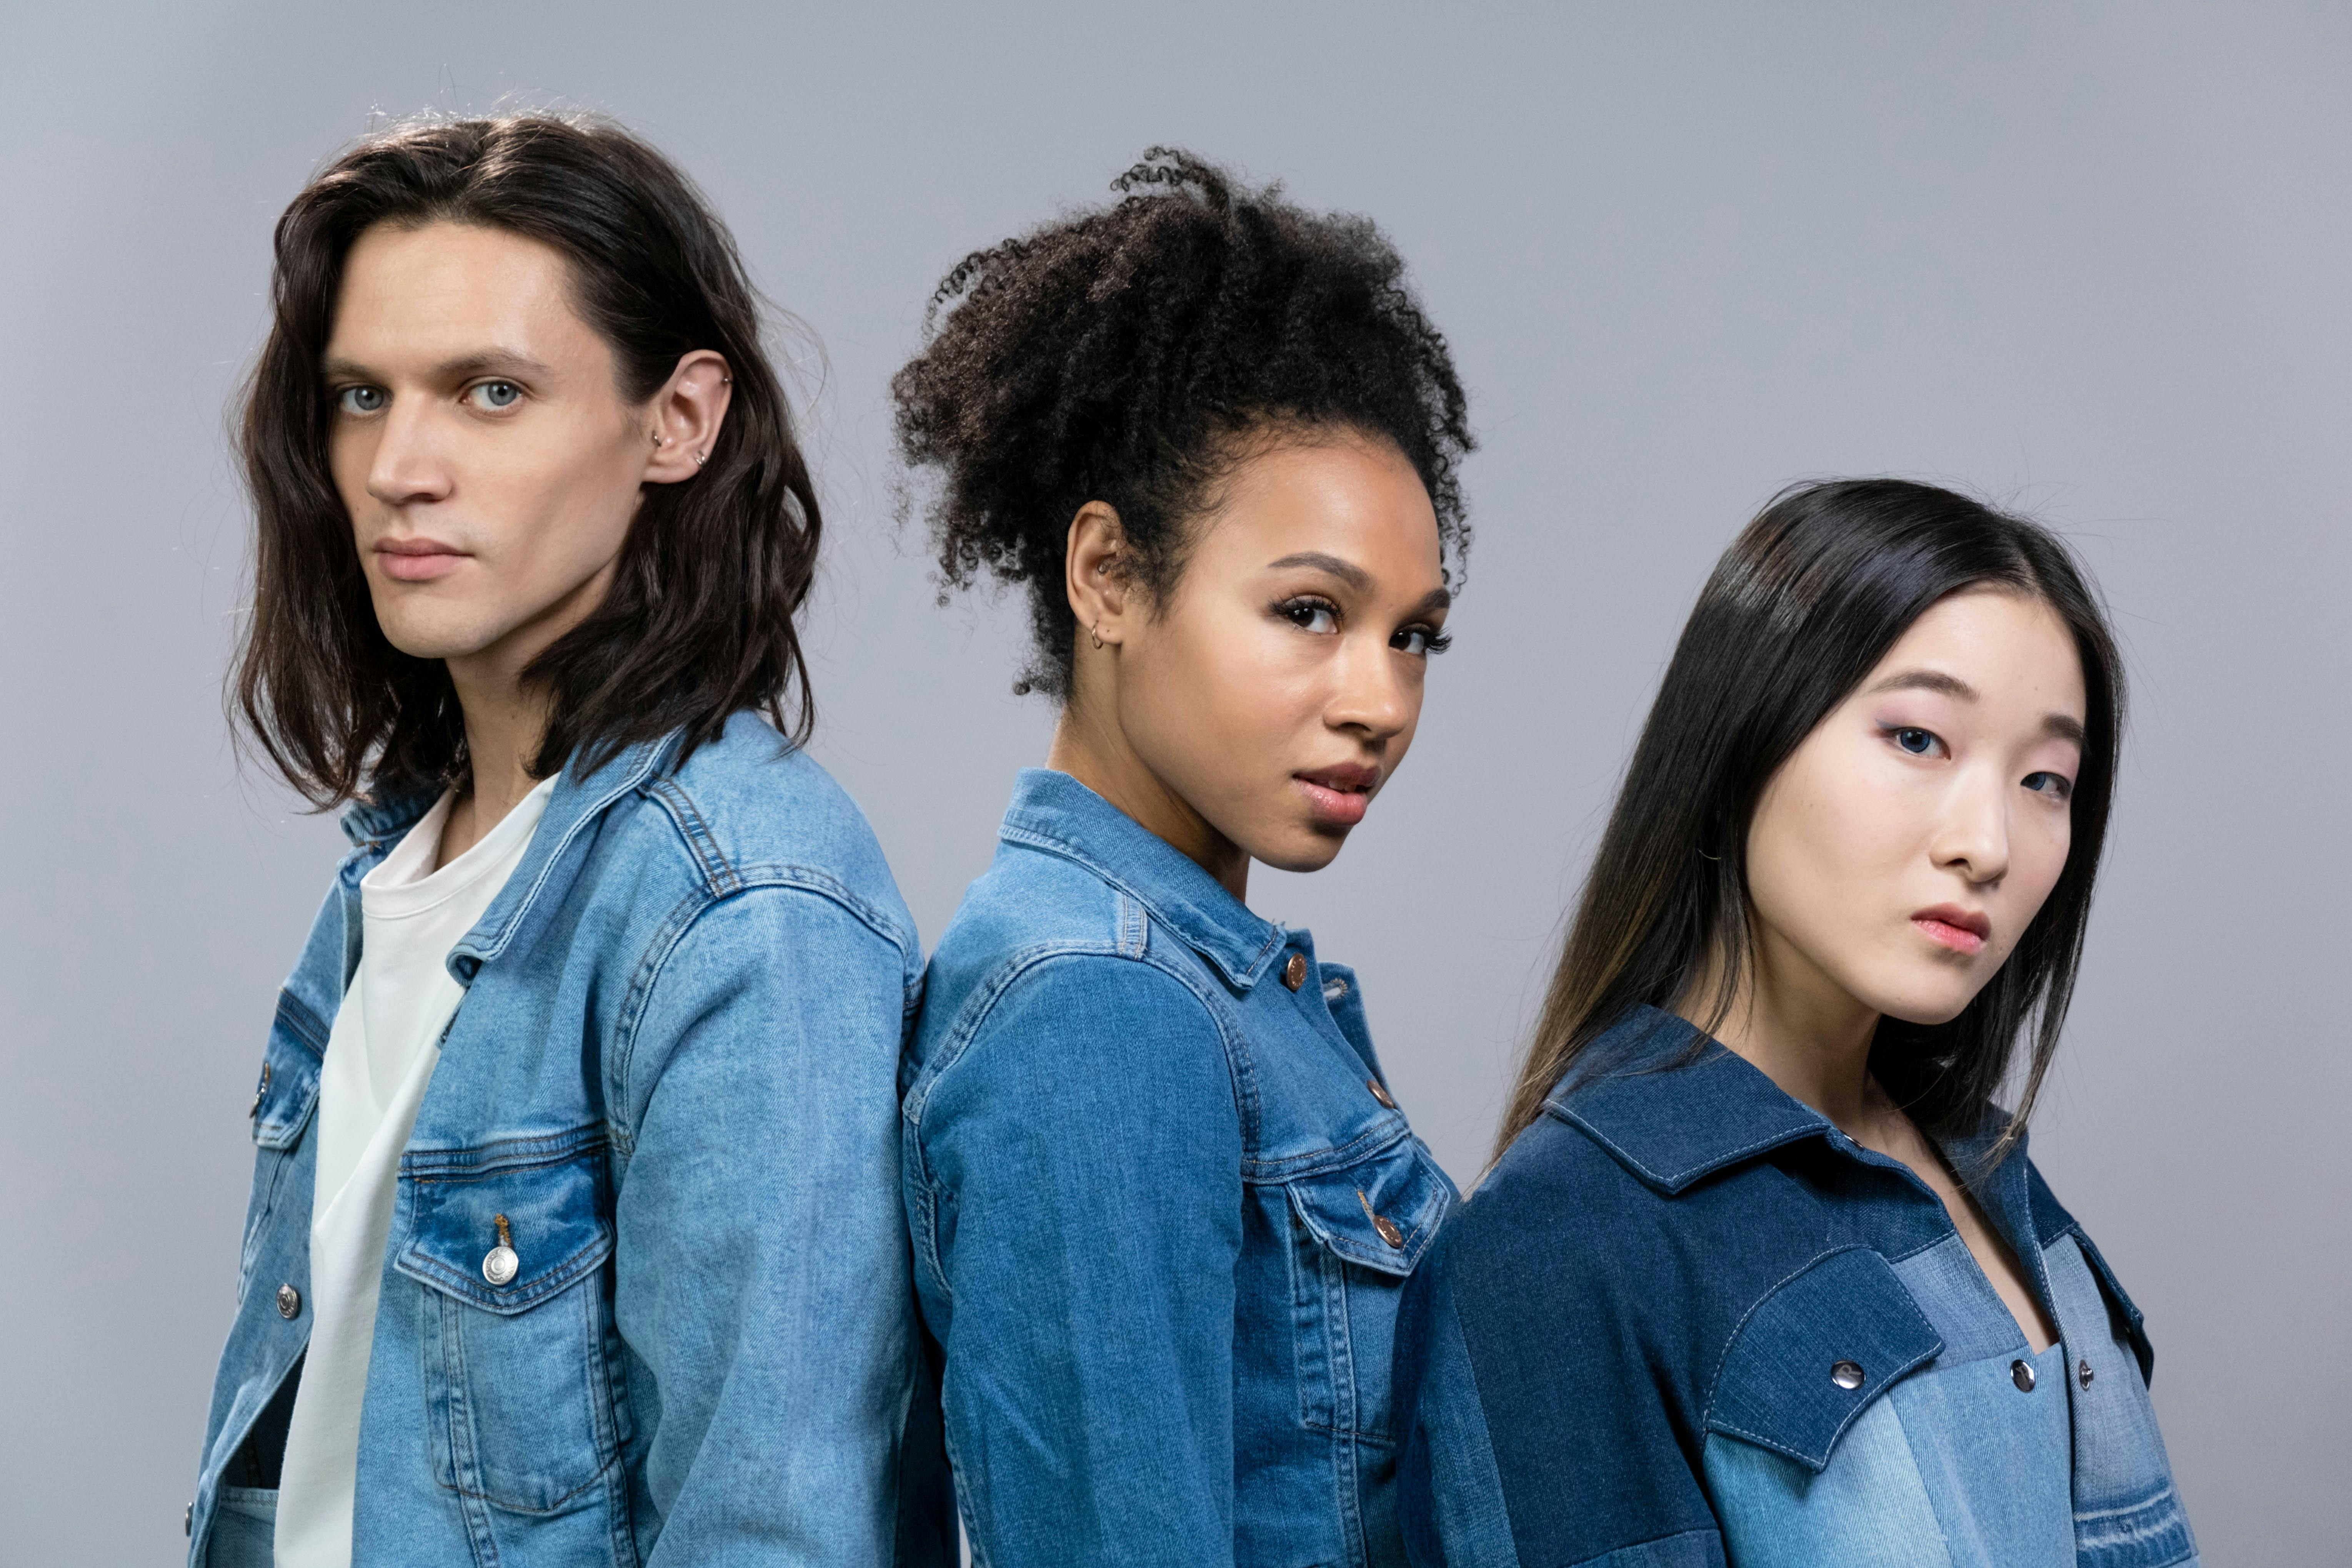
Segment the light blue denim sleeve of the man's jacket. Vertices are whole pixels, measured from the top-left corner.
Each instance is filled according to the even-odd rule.
[[[891,1559],[906,999],[898,943],[797,886],[720,900],[659,961],[609,1088],[649,1568]]]

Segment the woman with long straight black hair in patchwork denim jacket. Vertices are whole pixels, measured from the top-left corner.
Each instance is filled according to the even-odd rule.
[[[1724,552],[1406,1288],[1414,1561],[2197,1559],[2140,1312],[2025,1152],[2122,710],[2034,522],[1842,480]]]

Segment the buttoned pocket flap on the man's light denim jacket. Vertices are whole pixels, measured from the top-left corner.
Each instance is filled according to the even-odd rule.
[[[400,1157],[393,1267],[485,1312],[529,1312],[612,1258],[602,1128]]]

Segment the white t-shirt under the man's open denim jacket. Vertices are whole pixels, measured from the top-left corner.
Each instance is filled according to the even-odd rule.
[[[376,1286],[440,1037],[466,999],[447,959],[532,844],[555,780],[449,865],[433,870],[449,802],[360,882],[360,971],[343,992],[318,1074],[318,1187],[310,1201],[310,1349],[278,1481],[278,1568],[350,1568],[360,1399],[376,1338]]]

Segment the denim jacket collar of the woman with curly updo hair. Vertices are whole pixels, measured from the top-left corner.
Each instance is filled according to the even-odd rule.
[[[997,837],[1077,860],[1150,910],[1237,990],[1256,985],[1282,952],[1282,926],[1251,914],[1183,851],[1068,773],[1021,769]]]

